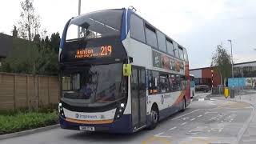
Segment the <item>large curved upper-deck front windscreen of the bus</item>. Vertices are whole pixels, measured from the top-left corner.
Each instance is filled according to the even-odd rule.
[[[66,40],[120,35],[123,10],[102,10],[83,14],[70,21]]]

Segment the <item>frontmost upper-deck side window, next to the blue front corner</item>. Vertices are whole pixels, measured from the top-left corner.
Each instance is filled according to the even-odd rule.
[[[141,42],[146,42],[143,20],[135,14],[130,16],[130,36]]]

